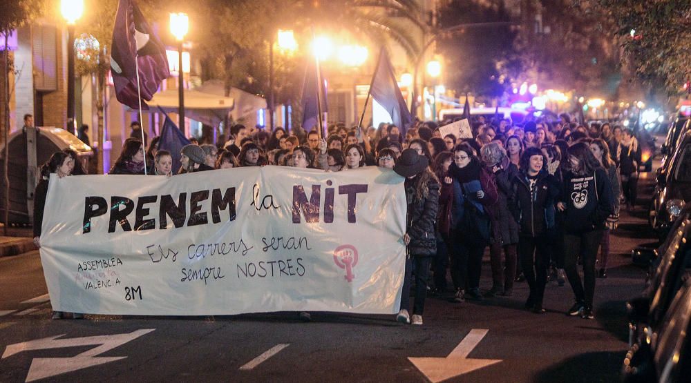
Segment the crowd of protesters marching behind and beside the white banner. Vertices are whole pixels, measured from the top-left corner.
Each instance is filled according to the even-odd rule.
[[[439,126],[446,122],[451,121]],[[392,124],[351,129],[337,124],[322,137],[316,130],[266,132],[235,125],[222,146],[196,140],[184,146],[178,174],[267,165],[330,172],[391,168],[406,177],[408,200],[399,322],[422,324],[428,293],[461,303],[511,297],[514,284],[522,282],[529,286],[525,308],[545,313],[549,280],[571,284],[575,303],[568,315],[592,319],[596,277],[607,277],[609,234],[620,199],[629,209],[636,202],[641,149],[632,131],[608,123],[577,124],[566,114],[558,121],[522,124],[479,117],[471,121],[474,138],[442,137],[439,126],[417,121],[401,131]],[[143,175],[146,158],[147,174],[171,177],[171,153],[158,150],[159,137],[146,150],[137,129],[138,124],[109,173]],[[84,171],[74,153],[55,153],[42,169],[34,210],[37,245],[50,173]],[[488,249],[492,287],[483,292],[482,257]]]

